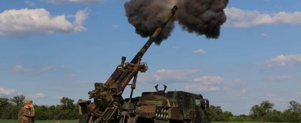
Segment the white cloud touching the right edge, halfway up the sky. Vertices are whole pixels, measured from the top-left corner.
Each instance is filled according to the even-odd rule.
[[[261,64],[265,66],[286,66],[301,64],[301,54],[280,55],[275,58],[264,60]]]

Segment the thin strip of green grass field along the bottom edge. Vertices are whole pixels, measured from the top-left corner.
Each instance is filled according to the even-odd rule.
[[[17,120],[1,120],[0,123],[18,123]],[[54,121],[36,121],[36,123],[54,123]],[[78,120],[60,120],[59,123],[78,123]],[[273,122],[212,122],[212,123],[273,123]]]

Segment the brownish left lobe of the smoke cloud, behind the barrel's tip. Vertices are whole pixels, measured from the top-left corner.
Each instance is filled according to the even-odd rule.
[[[161,25],[162,20],[171,10],[163,3],[168,4],[166,0],[131,0],[124,4],[128,21],[136,28],[136,33],[142,37],[148,37]],[[173,20],[158,35],[155,40],[156,44],[160,44],[170,35],[174,28]]]

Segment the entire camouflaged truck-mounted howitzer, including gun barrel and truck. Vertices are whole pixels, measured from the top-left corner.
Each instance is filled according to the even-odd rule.
[[[149,49],[158,34],[172,19],[177,6],[174,6],[162,25],[154,31],[150,39],[140,49],[131,62],[117,65],[113,74],[105,83],[95,83],[95,89],[88,92],[89,99],[78,101],[79,123],[204,123],[209,122],[205,117],[207,101],[201,94],[189,92],[143,92],[141,97],[132,97],[136,88],[138,72],[146,72],[148,65],[141,62],[143,55]],[[130,81],[132,81],[131,84]],[[124,89],[130,85],[129,98],[121,95]],[[208,102],[209,104],[209,102]],[[203,120],[204,119],[204,120]]]

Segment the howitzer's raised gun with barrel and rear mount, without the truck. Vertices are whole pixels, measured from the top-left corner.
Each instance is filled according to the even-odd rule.
[[[125,63],[126,58],[122,57],[121,64],[116,67],[113,74],[105,83],[94,84],[95,89],[88,92],[89,98],[93,98],[94,103],[90,104],[90,101],[78,102],[80,105],[79,123],[88,123],[91,122],[91,120],[96,123],[119,123],[120,120],[124,120],[124,115],[121,113],[124,111],[122,106],[126,102],[122,98],[121,94],[127,85],[131,85],[131,100],[133,90],[136,86],[138,72],[146,72],[148,70],[147,64],[141,63],[143,55],[156,39],[157,35],[161,32],[161,30],[164,29],[169,20],[174,16],[177,9],[177,6],[172,8],[162,25],[156,29],[156,31],[151,35],[150,39],[141,48],[131,62]],[[129,84],[132,79],[133,83]],[[85,114],[89,114],[88,112],[92,113],[93,117],[90,117],[89,115],[86,116]]]

